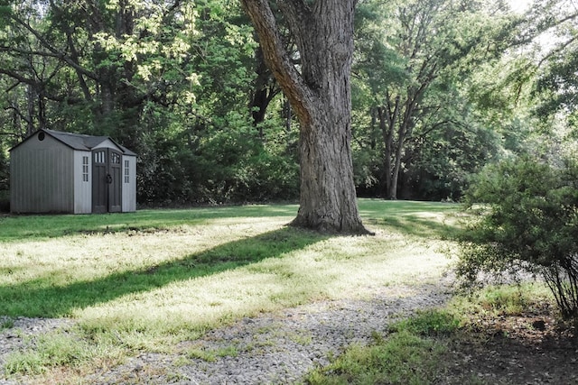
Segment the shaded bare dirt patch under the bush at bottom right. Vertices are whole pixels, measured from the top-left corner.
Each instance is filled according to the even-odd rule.
[[[480,316],[452,340],[448,384],[578,384],[576,326],[541,303],[522,314]]]

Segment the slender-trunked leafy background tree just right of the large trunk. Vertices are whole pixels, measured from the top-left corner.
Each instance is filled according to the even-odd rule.
[[[455,166],[423,170],[426,163],[421,161],[421,151],[439,148],[437,141],[443,138],[442,142],[449,141],[451,146],[463,145],[464,153],[481,140],[475,133],[491,138],[486,134],[489,127],[476,123],[475,105],[467,97],[467,79],[508,47],[503,35],[511,28],[507,28],[505,11],[484,8],[479,2],[466,5],[444,0],[388,6],[365,2],[360,8],[365,23],[358,27],[355,71],[362,85],[357,89],[370,100],[366,103],[370,119],[365,123],[372,132],[369,145],[382,151],[382,164],[373,167],[379,173],[376,179],[381,181],[381,195],[389,199],[398,194],[404,198],[459,198],[457,185],[465,182],[465,174],[488,160],[496,144],[486,142],[491,144],[489,151],[479,151],[473,162],[461,161],[456,157],[459,151],[454,151],[452,158],[434,162],[438,166],[453,163],[461,170]],[[384,23],[387,29],[382,27]],[[376,133],[381,141],[377,146]],[[454,133],[456,140],[448,133]],[[437,160],[444,154],[447,152],[438,153]],[[459,179],[455,179],[457,174]],[[431,178],[440,190],[421,189],[423,183],[416,180],[419,175]]]

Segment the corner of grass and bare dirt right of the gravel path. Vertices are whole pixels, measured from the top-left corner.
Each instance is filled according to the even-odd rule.
[[[573,324],[543,284],[489,286],[424,310],[352,346],[307,384],[573,383]]]

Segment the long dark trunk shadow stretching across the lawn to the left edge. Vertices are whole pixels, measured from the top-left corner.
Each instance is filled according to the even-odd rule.
[[[327,235],[285,226],[279,230],[224,243],[182,259],[126,270],[96,280],[53,286],[50,277],[0,286],[0,314],[5,316],[69,316],[127,294],[162,288],[172,282],[206,277],[284,253],[301,250]]]

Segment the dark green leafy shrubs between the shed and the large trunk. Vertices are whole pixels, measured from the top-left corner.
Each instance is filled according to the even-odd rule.
[[[291,139],[277,139],[280,134],[269,127],[272,138],[264,142],[252,125],[233,118],[228,123],[233,126],[186,141],[160,133],[144,138],[147,143],[138,150],[138,202],[180,206],[298,198],[299,164],[287,151]]]

